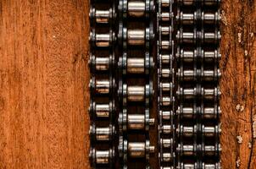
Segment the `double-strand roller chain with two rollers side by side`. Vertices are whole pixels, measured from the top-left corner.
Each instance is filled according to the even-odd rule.
[[[220,1],[177,0],[176,165],[220,168]]]

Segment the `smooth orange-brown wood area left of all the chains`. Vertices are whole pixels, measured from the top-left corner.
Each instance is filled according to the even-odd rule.
[[[0,9],[0,168],[87,168],[88,1]]]

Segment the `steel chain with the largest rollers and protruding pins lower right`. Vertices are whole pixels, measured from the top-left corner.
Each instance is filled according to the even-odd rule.
[[[118,67],[120,168],[149,168],[155,147],[149,130],[154,125],[153,0],[119,1]]]

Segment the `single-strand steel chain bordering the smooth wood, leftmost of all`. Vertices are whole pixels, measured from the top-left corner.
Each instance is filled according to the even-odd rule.
[[[114,1],[91,1],[90,6],[90,58],[89,83],[90,161],[92,168],[114,168],[116,155],[116,81]]]

